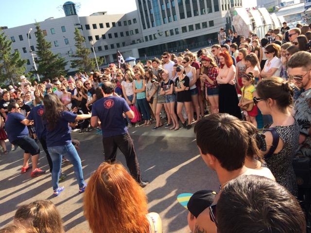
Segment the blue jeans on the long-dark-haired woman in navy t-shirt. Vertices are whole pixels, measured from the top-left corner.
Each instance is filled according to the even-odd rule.
[[[77,150],[72,145],[72,143],[69,143],[65,146],[48,147],[48,150],[53,163],[52,169],[53,190],[56,190],[58,188],[59,172],[62,166],[62,155],[64,155],[67,159],[69,159],[70,163],[73,165],[74,174],[79,183],[79,188],[83,188],[85,183],[83,179],[81,160]]]

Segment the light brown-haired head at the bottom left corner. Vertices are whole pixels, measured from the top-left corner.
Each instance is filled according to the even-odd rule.
[[[38,233],[64,233],[62,218],[50,200],[36,200],[20,206],[14,220],[33,227]]]

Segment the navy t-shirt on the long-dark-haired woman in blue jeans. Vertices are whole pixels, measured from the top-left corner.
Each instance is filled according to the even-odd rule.
[[[63,111],[53,130],[49,130],[49,123],[44,121],[44,126],[47,129],[47,146],[58,147],[66,146],[71,143],[71,127],[69,122],[75,122],[77,115],[69,111]]]

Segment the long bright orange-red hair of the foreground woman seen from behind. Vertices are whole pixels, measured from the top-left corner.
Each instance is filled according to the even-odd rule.
[[[93,233],[149,232],[147,197],[118,163],[102,163],[84,197],[84,216]]]

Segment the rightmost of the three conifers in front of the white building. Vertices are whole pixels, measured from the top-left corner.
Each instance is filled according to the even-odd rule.
[[[96,61],[94,58],[90,58],[89,54],[91,53],[91,50],[87,49],[85,47],[85,38],[81,35],[80,30],[75,28],[74,31],[74,40],[75,40],[75,47],[76,52],[75,54],[72,54],[71,57],[75,57],[77,59],[71,60],[71,68],[77,68],[80,72],[82,71],[90,71],[92,69],[95,69],[96,67]],[[98,65],[102,65],[104,62],[104,59],[97,57]],[[97,67],[96,67],[97,68]]]

